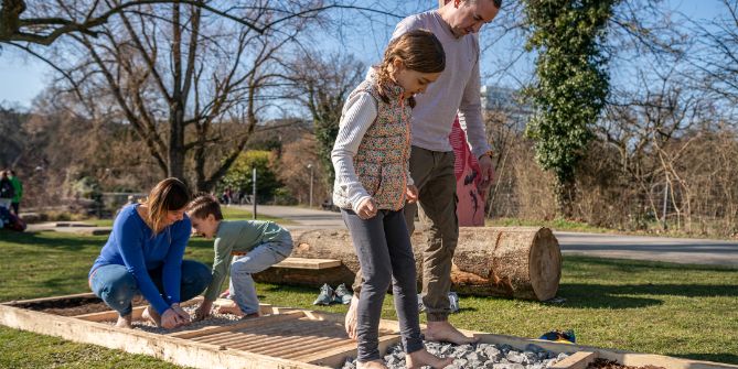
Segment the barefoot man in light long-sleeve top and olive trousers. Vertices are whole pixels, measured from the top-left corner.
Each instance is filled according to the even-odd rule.
[[[424,248],[423,302],[428,317],[426,339],[454,344],[473,343],[448,322],[451,259],[459,239],[456,215],[453,149],[449,133],[459,116],[471,153],[479,158],[481,192],[494,176],[490,145],[482,119],[478,32],[498,14],[502,0],[451,0],[442,8],[410,15],[397,24],[393,39],[416,29],[432,32],[443,45],[446,69],[420,95],[413,109],[410,175],[419,189],[420,221],[427,234]],[[405,206],[408,230],[415,229],[415,204]],[[346,313],[346,333],[355,337],[356,303],[361,273],[354,282],[354,300]]]

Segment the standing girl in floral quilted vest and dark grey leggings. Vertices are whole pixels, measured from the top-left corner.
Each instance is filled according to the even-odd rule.
[[[356,339],[359,368],[386,368],[378,350],[384,296],[393,284],[408,368],[443,368],[451,358],[429,354],[420,338],[416,269],[403,215],[418,191],[408,173],[413,95],[446,67],[443,46],[425,30],[393,40],[384,58],[351,93],[331,152],[333,203],[341,208],[363,273]]]

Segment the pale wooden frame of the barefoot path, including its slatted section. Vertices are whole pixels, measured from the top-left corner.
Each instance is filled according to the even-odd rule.
[[[195,300],[190,303],[197,302]],[[117,313],[111,311],[64,316],[69,314],[52,310],[61,305],[68,312],[74,312],[75,306],[92,303],[100,303],[92,293],[3,303],[0,304],[0,324],[77,343],[150,355],[196,368],[340,368],[347,357],[356,355],[356,344],[346,337],[343,315],[339,314],[264,305],[261,313],[265,315],[258,318],[157,334],[115,327],[110,322],[117,318]],[[142,307],[135,307],[133,318],[139,318],[141,311]],[[383,352],[388,346],[399,341],[397,322],[382,321],[379,330],[379,349]],[[727,363],[482,332],[466,333],[479,337],[481,343],[507,344],[521,350],[535,344],[554,352],[574,352],[567,359],[555,363],[552,367],[555,369],[584,369],[596,358],[616,360],[627,366],[653,365],[667,369],[738,369],[738,366]]]

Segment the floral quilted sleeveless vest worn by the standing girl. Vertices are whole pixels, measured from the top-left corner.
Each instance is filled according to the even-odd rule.
[[[351,94],[370,93],[377,101],[377,117],[370,126],[354,155],[354,170],[379,209],[399,210],[405,206],[407,173],[410,160],[410,113],[403,89],[392,86],[384,102],[374,78],[367,78]],[[351,208],[345,194],[334,194],[334,202]],[[338,197],[338,198],[336,198]]]

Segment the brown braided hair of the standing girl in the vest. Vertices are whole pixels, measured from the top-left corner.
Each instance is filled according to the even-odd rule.
[[[377,89],[384,102],[389,102],[386,88],[393,83],[388,67],[396,59],[415,72],[440,73],[446,69],[443,45],[430,31],[413,30],[398,36],[387,45],[382,63],[376,67]],[[415,98],[410,98],[410,107],[415,108]]]

